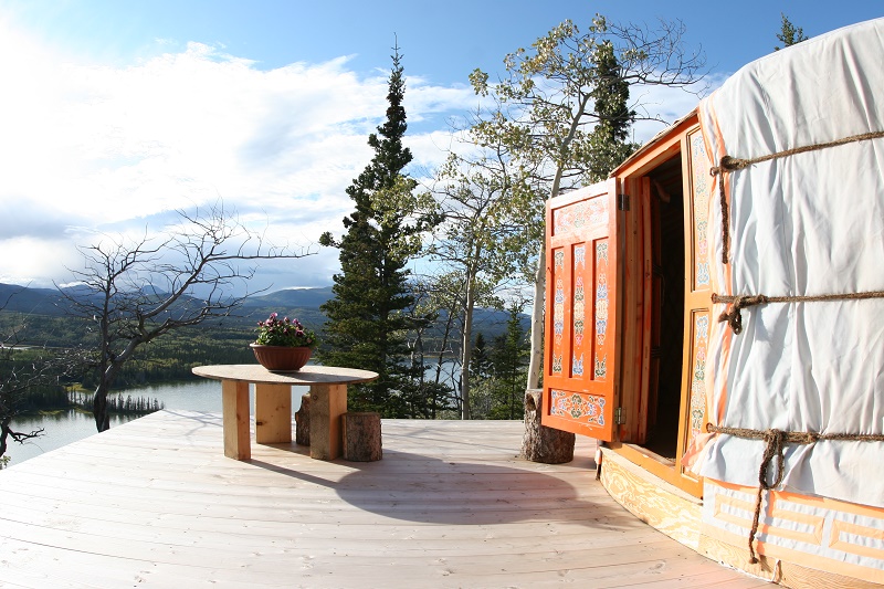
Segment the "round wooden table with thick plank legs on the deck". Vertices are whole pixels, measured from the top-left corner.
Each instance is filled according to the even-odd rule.
[[[271,372],[257,364],[198,366],[193,374],[221,381],[224,455],[235,460],[252,457],[249,383],[255,385],[255,442],[292,441],[292,386],[308,386],[311,457],[335,460],[340,455],[340,416],[347,411],[347,385],[378,378],[377,372],[334,366]]]

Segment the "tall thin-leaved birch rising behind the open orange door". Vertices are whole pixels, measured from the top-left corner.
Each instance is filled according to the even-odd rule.
[[[524,210],[526,224],[543,227],[544,202],[597,178],[601,158],[610,160],[604,168],[619,164],[603,152],[611,146],[610,135],[597,129],[657,119],[642,97],[625,108],[606,108],[612,106],[604,103],[606,88],[622,96],[625,84],[629,99],[629,90],[636,86],[688,87],[702,78],[703,55],[685,50],[683,33],[677,21],[649,29],[610,24],[597,14],[586,33],[565,21],[530,48],[508,54],[506,73],[497,83],[490,83],[481,70],[471,74],[475,92],[493,103],[472,130],[481,144],[507,147],[511,169],[533,196]],[[538,386],[543,353],[543,245],[537,262],[528,388]]]

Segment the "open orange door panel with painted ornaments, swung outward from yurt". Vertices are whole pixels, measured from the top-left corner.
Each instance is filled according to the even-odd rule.
[[[550,199],[541,423],[613,441],[617,357],[617,183]]]

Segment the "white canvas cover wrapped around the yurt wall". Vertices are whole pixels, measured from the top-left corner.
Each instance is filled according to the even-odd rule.
[[[759,486],[767,451],[771,488],[884,507],[884,19],[745,66],[699,118],[713,160],[744,161],[709,204],[733,322],[709,334],[690,465]]]

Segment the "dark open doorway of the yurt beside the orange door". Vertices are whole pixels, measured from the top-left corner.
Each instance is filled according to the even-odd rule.
[[[681,155],[654,168],[651,180],[651,361],[645,449],[675,460],[684,345],[685,220]]]

